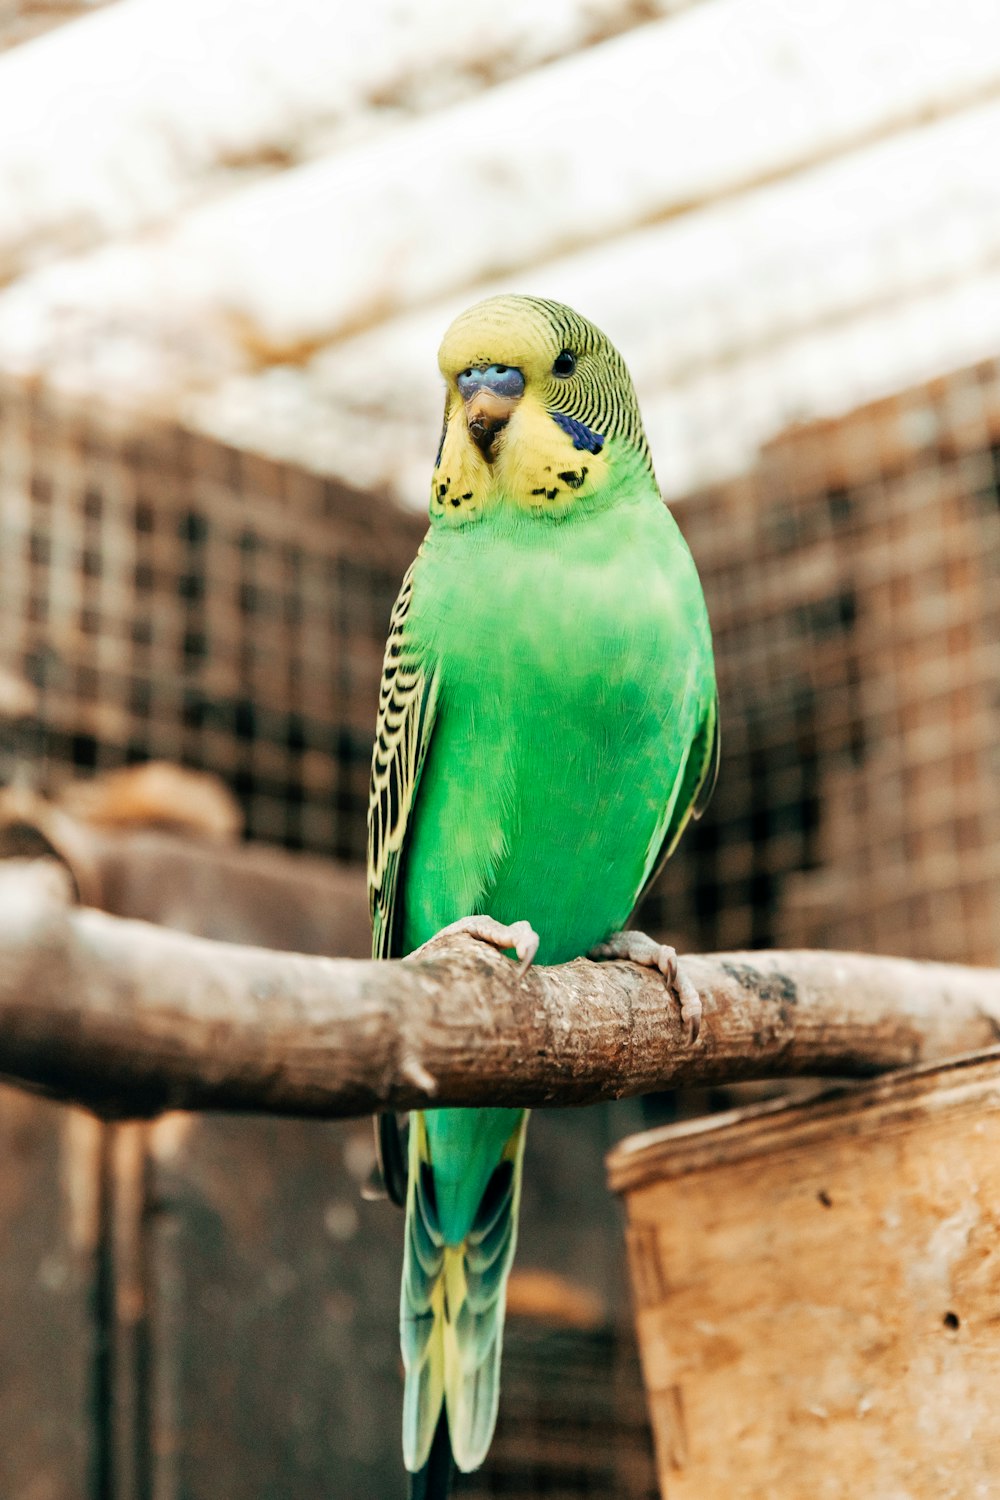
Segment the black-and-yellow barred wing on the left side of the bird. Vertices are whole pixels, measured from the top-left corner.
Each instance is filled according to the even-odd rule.
[[[372,910],[372,956],[399,958],[400,866],[409,812],[427,756],[438,696],[438,676],[408,638],[414,561],[393,606],[378,696],[367,814],[367,880]]]

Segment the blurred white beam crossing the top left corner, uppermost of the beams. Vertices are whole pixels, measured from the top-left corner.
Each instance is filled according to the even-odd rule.
[[[0,282],[688,3],[118,0],[0,58]]]

